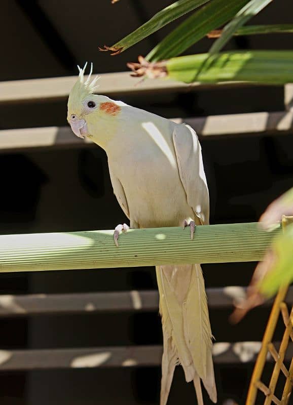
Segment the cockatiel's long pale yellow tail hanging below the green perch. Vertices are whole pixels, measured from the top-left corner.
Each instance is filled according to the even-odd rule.
[[[201,267],[157,266],[156,273],[164,338],[161,405],[166,405],[177,364],[184,369],[186,381],[193,380],[199,405],[203,405],[200,378],[216,402],[212,336]]]

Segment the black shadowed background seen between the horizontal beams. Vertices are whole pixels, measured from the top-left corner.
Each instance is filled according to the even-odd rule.
[[[0,80],[69,76],[92,61],[95,73],[125,71],[176,25],[163,28],[120,56],[98,46],[118,39],[170,4],[167,0],[3,0],[0,14]],[[278,0],[251,23],[291,23],[293,3]],[[229,49],[291,49],[292,36],[237,37]],[[208,50],[203,39],[192,51]],[[192,51],[189,53],[192,53]],[[69,90],[69,89],[68,89]],[[283,87],[189,89],[127,96],[122,101],[165,117],[284,110]],[[66,125],[66,101],[0,105],[0,130]],[[241,133],[241,128],[239,128]],[[72,134],[72,136],[74,136]],[[293,141],[284,136],[201,139],[210,188],[211,223],[258,220],[272,199],[292,185]],[[150,163],[151,164],[151,163]],[[113,194],[106,156],[87,149],[38,149],[0,154],[0,233],[112,229],[126,221]],[[246,286],[255,263],[204,265],[207,287]],[[154,268],[0,274],[1,294],[155,289]],[[252,311],[238,325],[228,310],[212,310],[216,341],[260,341],[268,309]],[[64,348],[159,344],[158,313],[107,313],[0,319],[0,348]],[[191,384],[177,368],[169,404],[195,403]],[[243,403],[251,363],[217,365],[219,402]],[[90,369],[0,374],[2,405],[159,403],[160,368]],[[206,403],[209,403],[208,400]]]

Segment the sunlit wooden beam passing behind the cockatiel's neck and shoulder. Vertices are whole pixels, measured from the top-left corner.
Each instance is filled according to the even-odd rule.
[[[293,133],[293,110],[173,118],[192,126],[199,137],[245,135],[283,135]],[[91,145],[87,138],[75,136],[68,127],[42,127],[0,131],[0,152],[34,148],[69,148]]]

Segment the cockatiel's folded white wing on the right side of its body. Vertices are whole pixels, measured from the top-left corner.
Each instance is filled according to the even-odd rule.
[[[187,202],[201,223],[208,224],[209,195],[196,132],[186,124],[177,125],[173,131],[173,144]]]

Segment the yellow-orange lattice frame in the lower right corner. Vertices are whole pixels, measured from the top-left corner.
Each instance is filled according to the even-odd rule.
[[[288,223],[293,223],[293,217],[285,217],[282,218],[282,225],[283,229]],[[269,321],[267,324],[266,332],[264,334],[262,347],[260,353],[258,355],[258,359],[255,363],[254,371],[252,374],[248,395],[246,399],[246,405],[254,405],[255,399],[257,398],[258,390],[262,391],[265,394],[264,405],[270,405],[271,403],[275,403],[276,405],[287,405],[289,402],[289,397],[292,391],[293,386],[293,359],[291,361],[291,365],[289,370],[286,369],[284,365],[284,358],[285,353],[289,344],[289,340],[293,340],[293,307],[291,308],[291,312],[289,315],[289,311],[287,308],[286,303],[284,302],[286,294],[288,291],[288,286],[284,286],[280,288],[275,301],[274,305],[269,317]],[[279,319],[280,314],[282,315],[285,331],[283,334],[283,338],[280,344],[279,351],[275,349],[272,339],[276,329],[277,321]],[[267,355],[271,354],[273,359],[275,360],[275,366],[272,372],[272,376],[270,379],[269,387],[267,387],[262,381],[261,377],[266,365]],[[282,398],[278,399],[275,396],[275,389],[277,386],[278,378],[280,372],[284,374],[286,378],[286,382],[283,389]]]

